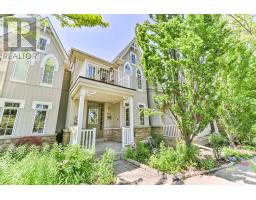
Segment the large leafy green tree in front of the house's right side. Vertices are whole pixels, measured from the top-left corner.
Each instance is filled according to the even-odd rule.
[[[142,64],[155,101],[174,116],[188,146],[217,115],[219,72],[232,65],[234,33],[221,15],[155,17],[136,27]],[[156,90],[157,91],[157,90]]]

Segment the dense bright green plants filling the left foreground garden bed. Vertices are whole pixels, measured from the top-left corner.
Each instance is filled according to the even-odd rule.
[[[110,184],[113,163],[110,151],[98,159],[75,145],[13,146],[0,154],[0,184]]]

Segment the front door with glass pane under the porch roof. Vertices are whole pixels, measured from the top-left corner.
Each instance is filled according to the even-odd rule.
[[[96,128],[96,138],[103,137],[103,103],[88,102],[86,128]]]

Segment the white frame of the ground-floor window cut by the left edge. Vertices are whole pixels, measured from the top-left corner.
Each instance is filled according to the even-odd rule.
[[[9,137],[13,137],[13,135],[15,135],[15,131],[16,131],[16,127],[17,127],[17,123],[18,123],[18,118],[19,118],[19,114],[20,114],[20,109],[25,107],[25,100],[21,100],[21,99],[11,99],[11,98],[0,98],[0,123],[2,122],[2,117],[3,117],[3,113],[5,109],[10,109],[10,107],[5,107],[5,103],[19,103],[19,107],[13,107],[15,109],[17,109],[17,113],[16,113],[16,117],[15,117],[15,121],[13,124],[13,129],[12,129],[12,134],[11,135],[0,135],[0,138],[9,138]]]

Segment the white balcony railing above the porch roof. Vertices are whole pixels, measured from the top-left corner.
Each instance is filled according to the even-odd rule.
[[[82,76],[94,79],[100,82],[109,83],[112,85],[130,88],[130,76],[122,71],[113,68],[104,68],[97,65],[88,64],[85,67],[85,72],[81,71]]]

